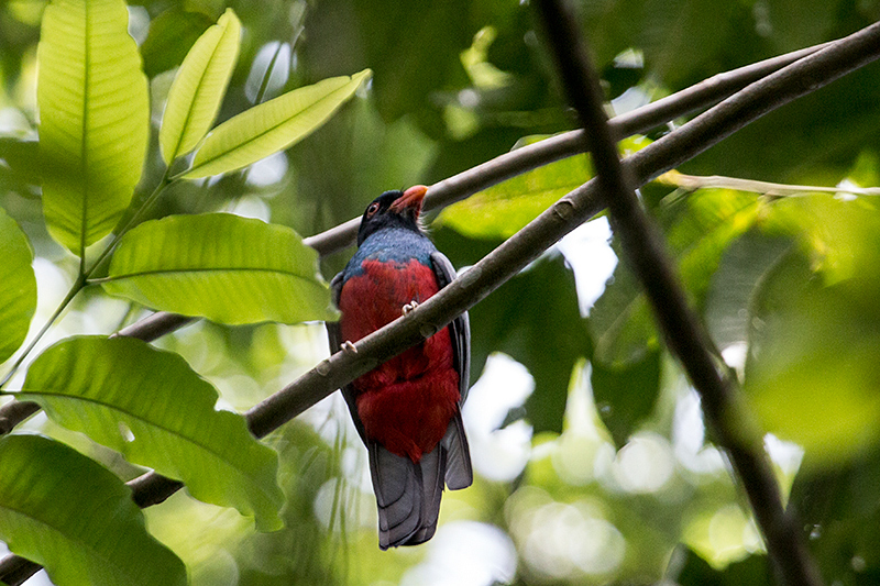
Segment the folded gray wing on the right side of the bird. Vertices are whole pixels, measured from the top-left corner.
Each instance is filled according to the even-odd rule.
[[[455,268],[449,258],[441,252],[431,254],[437,283],[442,289],[455,278]],[[474,473],[471,466],[471,452],[468,447],[468,436],[464,434],[464,423],[461,420],[461,406],[468,398],[471,378],[471,323],[465,311],[449,324],[450,339],[452,340],[453,365],[459,372],[459,391],[461,400],[459,410],[449,422],[447,433],[440,445],[446,452],[446,483],[450,490],[466,488],[473,484]],[[437,450],[435,450],[437,452]]]

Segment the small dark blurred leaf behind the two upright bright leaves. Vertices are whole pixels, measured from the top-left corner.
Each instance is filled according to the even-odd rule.
[[[141,45],[147,77],[180,65],[193,44],[212,24],[212,18],[182,5],[173,5],[150,21],[150,31]]]

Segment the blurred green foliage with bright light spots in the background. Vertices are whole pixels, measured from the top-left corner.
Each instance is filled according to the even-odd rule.
[[[244,36],[221,121],[326,77],[370,67],[373,81],[307,140],[243,172],[178,184],[153,217],[232,210],[309,235],[359,215],[384,189],[430,185],[526,136],[572,128],[528,5],[492,0],[132,2],[130,32],[154,112],[162,111],[172,69],[227,7]],[[32,328],[76,275],[76,259],[45,233],[40,170],[28,164],[43,8],[29,0],[0,7],[0,206],[35,248],[40,305]],[[850,33],[880,19],[880,2],[607,0],[583,1],[580,11],[622,113],[715,73]],[[866,67],[678,170],[876,187],[878,87],[880,67]],[[142,198],[163,170],[157,121]],[[570,170],[548,173],[528,198],[508,187],[493,191],[494,203],[472,198],[447,210],[432,224],[433,240],[455,266],[473,264]],[[776,432],[767,444],[826,581],[876,583],[876,203],[818,194],[690,194],[668,183],[642,195],[759,421]],[[607,237],[603,220],[590,224],[472,310],[472,371],[482,378],[465,420],[477,479],[444,496],[442,524],[428,545],[377,550],[364,452],[337,399],[267,439],[280,453],[284,530],[254,533],[235,511],[182,493],[147,511],[151,531],[187,563],[194,584],[769,583],[741,495],[706,442],[697,401],[658,340],[634,278],[615,267]],[[328,279],[348,254],[324,259]],[[614,279],[594,306],[610,270]],[[130,311],[140,314],[88,294],[51,339],[108,333],[131,320]],[[326,353],[319,323],[202,321],[158,345],[183,354],[237,410]],[[42,416],[28,428],[133,474],[114,453]]]

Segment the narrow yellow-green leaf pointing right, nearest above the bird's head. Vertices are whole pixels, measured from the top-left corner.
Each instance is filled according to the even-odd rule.
[[[246,167],[301,141],[354,95],[372,75],[332,77],[306,86],[232,118],[213,130],[196,153],[184,177],[219,175]]]

